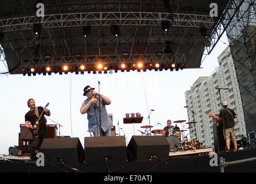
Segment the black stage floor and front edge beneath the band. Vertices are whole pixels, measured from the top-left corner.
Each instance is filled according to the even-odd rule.
[[[38,167],[36,162],[28,160],[28,157],[19,158],[2,155],[0,160],[1,173],[220,173],[221,166],[210,166],[210,151],[201,149],[181,152],[170,152],[165,159],[135,160],[120,163],[51,163],[44,162],[44,166]],[[188,155],[190,154],[190,155]],[[247,150],[219,152],[218,158],[224,158],[225,162],[253,158],[256,148]],[[46,159],[47,160],[47,159]],[[256,161],[225,166],[225,173],[251,173],[256,172]]]

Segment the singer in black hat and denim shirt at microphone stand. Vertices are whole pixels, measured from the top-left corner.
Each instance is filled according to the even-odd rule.
[[[92,132],[94,137],[98,136],[111,136],[112,121],[107,115],[106,105],[111,104],[111,100],[104,95],[99,95],[95,88],[90,86],[84,87],[84,96],[87,99],[83,102],[80,112],[81,114],[87,113],[88,131]],[[99,104],[101,98],[101,104]],[[99,123],[99,105],[101,105],[101,127]],[[100,132],[101,131],[101,132]]]

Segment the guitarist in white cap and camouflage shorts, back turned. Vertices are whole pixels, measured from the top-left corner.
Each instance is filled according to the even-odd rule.
[[[238,115],[232,110],[228,108],[227,102],[222,103],[223,109],[220,111],[218,116],[207,112],[210,116],[212,116],[217,121],[222,120],[224,117],[225,128],[223,129],[224,137],[226,137],[226,144],[229,150],[230,141],[232,140],[235,150],[238,150],[238,144],[236,143],[236,134],[235,134],[235,121],[234,118],[237,118]]]

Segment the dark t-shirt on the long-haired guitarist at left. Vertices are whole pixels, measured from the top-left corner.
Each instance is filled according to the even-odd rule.
[[[42,111],[43,111],[43,107],[39,106],[38,107],[39,116],[42,113]],[[36,120],[38,120],[38,117],[36,117],[35,115],[35,109],[29,110],[29,112],[25,114],[25,121],[29,121],[32,125],[35,125]],[[46,129],[46,118],[44,118],[44,112],[39,122],[40,122],[39,129]]]

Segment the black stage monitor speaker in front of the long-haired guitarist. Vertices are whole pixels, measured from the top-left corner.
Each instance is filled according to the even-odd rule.
[[[43,152],[44,159],[52,163],[73,165],[84,162],[84,148],[78,137],[44,139],[40,152]]]

